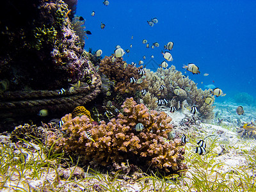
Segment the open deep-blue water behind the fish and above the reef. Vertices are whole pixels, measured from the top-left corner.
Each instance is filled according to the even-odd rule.
[[[187,74],[198,88],[214,84],[227,93],[219,100],[239,92],[256,98],[256,1],[109,0],[109,6],[102,2],[80,0],[77,4],[76,15],[86,19],[86,30],[92,32],[85,41],[87,51],[89,47],[102,49],[102,56],[110,56],[116,45],[130,49],[132,44],[124,60],[138,63],[145,55],[146,68],[154,69],[156,64],[150,56],[160,64],[163,46],[172,41],[173,61],[169,66],[175,65],[184,73],[184,64],[195,63],[201,74]],[[159,22],[148,26],[147,20],[154,17]],[[100,29],[100,22],[106,28]],[[160,46],[146,49],[144,38],[150,46],[154,42]]]

